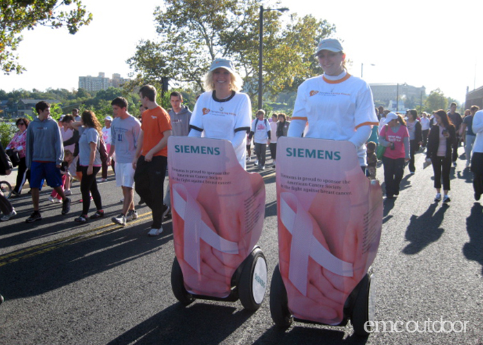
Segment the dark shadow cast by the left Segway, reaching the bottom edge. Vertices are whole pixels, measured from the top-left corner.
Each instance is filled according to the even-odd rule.
[[[146,319],[108,345],[117,344],[220,344],[253,313],[231,306],[177,303]],[[223,320],[223,323],[220,322]]]

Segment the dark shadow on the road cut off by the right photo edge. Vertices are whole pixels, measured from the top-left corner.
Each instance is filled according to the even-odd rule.
[[[483,266],[483,206],[479,203],[473,204],[471,214],[466,218],[466,231],[470,242],[463,246],[464,256]],[[483,275],[483,268],[482,268]]]

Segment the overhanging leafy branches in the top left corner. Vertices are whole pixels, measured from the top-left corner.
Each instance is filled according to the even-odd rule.
[[[92,14],[81,0],[0,0],[0,69],[6,75],[25,70],[15,52],[24,30],[67,27],[70,34],[75,34],[91,20]]]

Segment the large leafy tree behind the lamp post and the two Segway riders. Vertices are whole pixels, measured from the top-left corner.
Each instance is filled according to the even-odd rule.
[[[155,10],[159,41],[141,41],[130,67],[145,83],[169,77],[178,83],[193,82],[203,90],[203,76],[211,61],[230,57],[244,77],[244,91],[257,92],[260,0],[165,0]],[[276,7],[276,6],[273,6]],[[335,26],[312,16],[264,14],[264,85],[273,95],[294,89],[316,70],[315,47]]]

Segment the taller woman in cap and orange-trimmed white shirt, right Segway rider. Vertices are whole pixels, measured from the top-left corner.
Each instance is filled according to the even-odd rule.
[[[315,55],[323,75],[299,86],[288,137],[347,140],[357,150],[359,164],[366,167],[366,140],[375,115],[373,94],[368,83],[348,74],[346,55],[337,39],[322,39]]]

